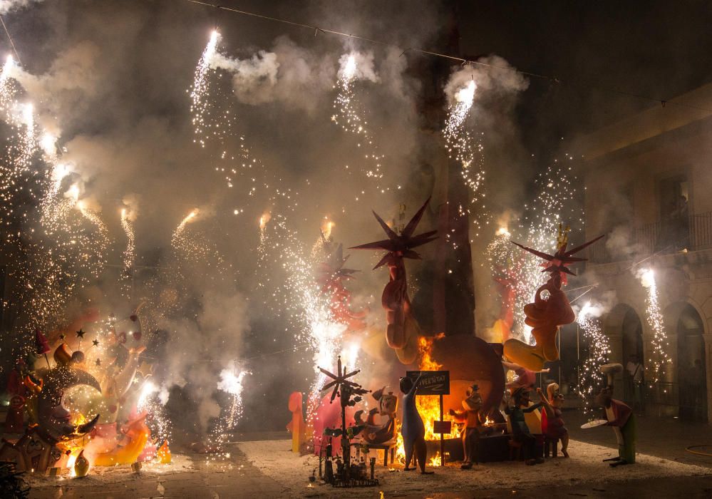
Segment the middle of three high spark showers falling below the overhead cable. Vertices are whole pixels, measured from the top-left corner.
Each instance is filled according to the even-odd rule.
[[[334,88],[338,89],[334,100],[336,114],[331,116],[331,120],[336,125],[341,126],[347,132],[358,135],[358,148],[365,151],[363,158],[366,160],[366,177],[376,181],[376,191],[385,193],[390,191],[390,187],[383,187],[383,171],[381,170],[383,158],[379,155],[376,145],[373,144],[373,137],[368,131],[368,121],[361,117],[357,109],[356,96],[354,96],[354,82],[356,81],[356,57],[351,54],[342,56],[339,80]],[[348,167],[346,167],[348,168]],[[358,200],[358,197],[356,197]]]

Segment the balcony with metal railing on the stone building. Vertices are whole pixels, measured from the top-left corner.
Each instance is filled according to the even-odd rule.
[[[712,212],[674,217],[654,223],[616,230],[621,244],[596,244],[588,249],[592,263],[625,262],[651,254],[712,248]]]

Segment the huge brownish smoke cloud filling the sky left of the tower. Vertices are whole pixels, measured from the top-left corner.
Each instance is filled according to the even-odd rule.
[[[371,20],[381,9],[375,5],[348,17],[355,32],[375,33]],[[72,172],[61,191],[76,185],[81,200],[100,214],[113,241],[111,264],[120,264],[127,243],[120,225],[120,212],[127,210],[135,227],[137,264],[145,267],[135,272],[133,299],[120,294],[118,271],[107,272],[73,299],[68,314],[80,312],[88,297],[102,314],[128,314],[143,302],[142,320],[151,316],[146,329],[160,332],[150,354],[157,358],[161,401],[170,410],[170,398],[180,389],[197,409],[195,430],[210,431],[224,391],[218,388],[220,372],[248,352],[259,357],[289,349],[299,333],[284,313],[275,312],[279,299],[270,297],[271,288],[264,302],[256,291],[259,283],[277,287],[287,277],[278,254],[257,268],[260,215],[272,211],[273,223],[287,215],[289,230],[306,247],[329,217],[336,222],[336,240],[349,246],[361,237],[380,237],[369,215],[372,207],[391,218],[400,202],[415,206],[428,195],[376,190],[376,180],[364,174],[371,165],[363,159],[358,136],[330,119],[336,113],[339,71],[352,56],[354,108],[373,137],[369,152],[385,158],[384,187],[401,184],[405,192],[420,133],[419,86],[408,74],[408,57],[396,48],[344,46],[340,39],[321,36],[315,43],[311,35],[286,36],[279,27],[265,31],[221,19],[225,38],[220,56],[210,61],[217,70],[210,76],[210,98],[215,108],[234,110],[236,120],[222,143],[203,149],[194,143],[186,93],[214,22],[203,11],[123,1],[79,9],[59,1],[18,12],[51,26],[40,31],[39,41],[18,36],[22,53],[34,53],[33,43],[45,49],[26,58],[13,76],[23,88],[22,98],[35,105],[38,130],[58,137],[60,160]],[[107,19],[113,21],[107,24]],[[421,43],[437,23],[415,38],[411,27],[403,26],[408,27],[404,39]],[[235,175],[234,187],[227,187],[220,169],[239,168],[243,143],[259,168]],[[237,159],[225,161],[223,151]],[[274,196],[276,190],[291,190],[291,197]],[[184,251],[171,241],[195,207],[200,214],[185,225]],[[373,258],[362,252],[349,263],[370,269]],[[371,305],[371,313],[380,317],[373,289],[384,278],[363,272],[353,284],[355,306]],[[296,363],[300,355],[311,357],[298,351],[267,357],[274,361],[257,368],[245,366],[254,371],[244,381],[248,418],[260,425],[264,418],[282,423],[269,403],[249,392],[282,401],[296,388],[295,378],[304,379],[306,388],[312,368],[309,362]],[[180,418],[188,418],[185,411]]]

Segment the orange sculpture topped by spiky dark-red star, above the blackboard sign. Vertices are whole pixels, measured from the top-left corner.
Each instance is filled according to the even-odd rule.
[[[425,208],[430,203],[430,197],[421,206],[421,209],[413,215],[408,225],[403,228],[399,235],[395,230],[388,227],[386,222],[373,212],[388,239],[368,242],[365,245],[354,246],[351,249],[385,249],[387,253],[376,264],[373,269],[378,269],[382,265],[388,265],[391,279],[383,289],[381,304],[386,309],[386,341],[388,346],[396,350],[398,359],[403,364],[411,364],[418,356],[418,336],[420,327],[411,314],[411,299],[408,298],[408,282],[406,281],[406,264],[404,258],[421,259],[421,255],[413,251],[413,248],[425,245],[437,239],[437,230],[423,232],[414,236],[418,223],[423,218]]]

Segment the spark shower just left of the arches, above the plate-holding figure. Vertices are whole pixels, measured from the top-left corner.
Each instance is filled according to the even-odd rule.
[[[601,322],[597,319],[601,313],[602,310],[599,307],[587,302],[579,311],[576,319],[589,349],[589,355],[584,359],[579,373],[579,396],[582,398],[584,413],[587,415],[592,413],[594,409],[591,405],[592,399],[605,380],[600,368],[602,365],[608,364],[611,354],[608,336],[604,334]]]

